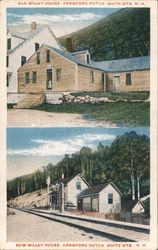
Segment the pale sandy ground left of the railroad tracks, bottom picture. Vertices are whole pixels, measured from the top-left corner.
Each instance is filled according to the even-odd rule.
[[[105,242],[105,237],[85,233],[83,230],[73,228],[61,223],[27,214],[25,212],[9,209],[15,212],[7,217],[8,242]]]

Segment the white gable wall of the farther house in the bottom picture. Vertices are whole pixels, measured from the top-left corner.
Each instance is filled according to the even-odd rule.
[[[81,182],[81,189],[76,188],[76,182]],[[69,202],[72,202],[75,206],[77,206],[77,195],[88,185],[82,180],[80,176],[75,176],[67,185],[67,194],[66,197]]]

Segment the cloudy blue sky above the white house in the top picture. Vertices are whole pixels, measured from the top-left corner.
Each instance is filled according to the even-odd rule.
[[[57,37],[72,33],[106,17],[115,8],[8,8],[7,26],[27,31],[33,21],[48,24]],[[19,27],[20,26],[20,27]],[[17,30],[16,30],[17,31]]]

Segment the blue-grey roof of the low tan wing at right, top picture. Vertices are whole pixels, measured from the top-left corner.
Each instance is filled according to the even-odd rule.
[[[92,64],[100,67],[106,72],[123,72],[150,69],[150,56],[118,59],[94,62]]]

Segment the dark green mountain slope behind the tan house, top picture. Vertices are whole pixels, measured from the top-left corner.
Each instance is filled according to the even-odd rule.
[[[146,56],[150,53],[150,9],[125,8],[72,34],[59,38],[66,46],[71,37],[73,51],[88,49],[93,60]]]

